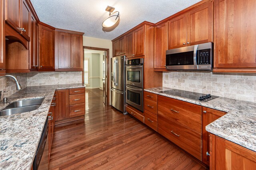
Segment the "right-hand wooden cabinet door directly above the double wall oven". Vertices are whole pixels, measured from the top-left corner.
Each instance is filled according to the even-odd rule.
[[[134,31],[134,57],[144,55],[145,31],[144,26]]]

